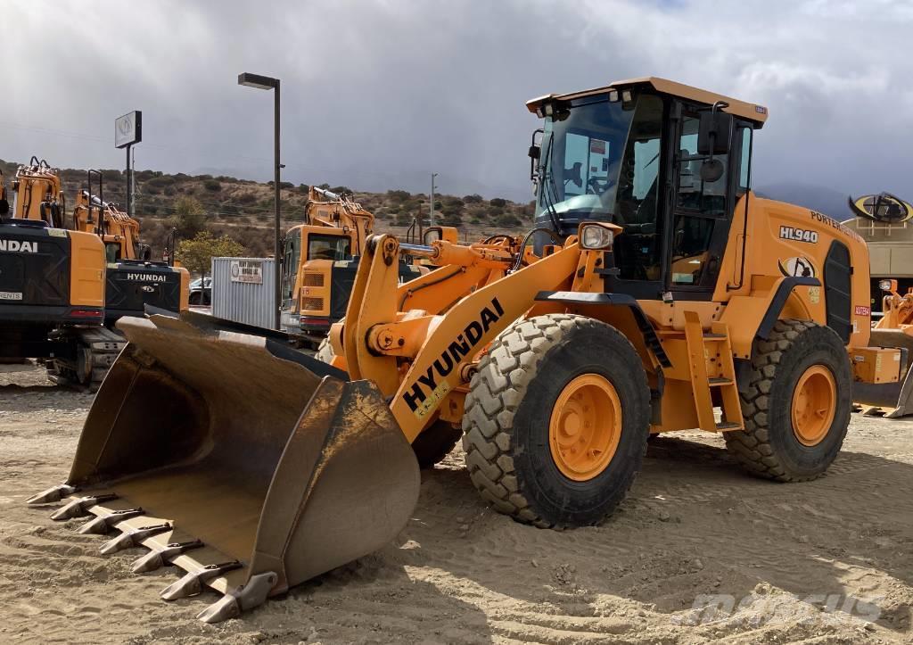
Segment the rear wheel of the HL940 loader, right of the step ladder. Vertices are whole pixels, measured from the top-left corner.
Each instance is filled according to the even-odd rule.
[[[726,448],[759,477],[820,477],[843,446],[852,409],[853,380],[840,337],[816,322],[778,321],[767,341],[756,342],[751,365],[749,384],[740,394],[745,429],[723,433]],[[809,375],[824,384],[823,400],[833,397],[820,407],[818,428],[796,416],[805,391],[796,389]],[[828,382],[834,386],[830,394]]]

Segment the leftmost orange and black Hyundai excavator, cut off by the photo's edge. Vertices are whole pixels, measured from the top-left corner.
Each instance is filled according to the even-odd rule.
[[[51,375],[97,386],[122,344],[102,324],[104,246],[64,227],[59,173],[46,161],[19,166],[11,187],[12,210],[0,199],[0,357],[37,358]]]

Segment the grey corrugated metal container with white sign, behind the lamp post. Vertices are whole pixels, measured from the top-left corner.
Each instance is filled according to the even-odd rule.
[[[272,329],[276,297],[272,258],[213,258],[213,315]]]

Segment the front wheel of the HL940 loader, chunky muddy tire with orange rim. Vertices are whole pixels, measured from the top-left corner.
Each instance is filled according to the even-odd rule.
[[[582,386],[595,394],[575,395],[578,383],[596,384]],[[606,408],[603,399],[614,404]],[[579,414],[569,405],[575,400],[583,402]],[[609,413],[588,416],[588,407]],[[565,425],[566,418],[574,423]],[[594,420],[601,418],[603,425]],[[645,370],[622,333],[570,314],[520,320],[498,335],[470,384],[463,418],[469,476],[485,500],[520,522],[556,528],[598,523],[640,471],[649,419]],[[605,436],[610,443],[591,449]],[[580,455],[565,451],[577,449],[607,460],[597,457],[593,468],[574,471],[572,461]]]

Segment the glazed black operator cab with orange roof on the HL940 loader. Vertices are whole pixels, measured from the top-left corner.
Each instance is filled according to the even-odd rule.
[[[766,108],[656,78],[527,106],[545,120],[530,147],[537,226],[612,222],[605,291],[709,300]]]

